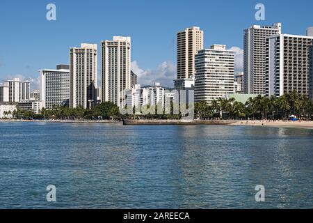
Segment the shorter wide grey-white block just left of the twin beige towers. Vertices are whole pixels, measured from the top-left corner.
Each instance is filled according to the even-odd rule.
[[[56,70],[40,70],[42,107],[69,106],[70,66],[57,66]]]

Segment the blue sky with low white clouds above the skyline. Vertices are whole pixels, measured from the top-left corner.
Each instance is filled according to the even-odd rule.
[[[49,3],[56,5],[56,21],[46,19]],[[264,21],[255,20],[257,3],[265,6]],[[139,84],[172,86],[176,33],[191,26],[204,31],[204,47],[234,50],[235,70],[241,71],[243,29],[282,22],[282,33],[305,35],[313,26],[312,8],[312,0],[1,0],[0,82],[19,77],[39,89],[38,70],[69,64],[70,47],[96,43],[99,51],[102,40],[131,36]]]

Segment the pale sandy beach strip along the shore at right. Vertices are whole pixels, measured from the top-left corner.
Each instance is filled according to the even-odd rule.
[[[271,126],[271,127],[288,127],[288,128],[312,128],[313,121],[238,121],[230,125],[249,125],[249,126]]]

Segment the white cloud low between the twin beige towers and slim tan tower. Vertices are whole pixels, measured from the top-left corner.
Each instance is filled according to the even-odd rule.
[[[131,70],[138,75],[138,84],[143,86],[160,82],[162,86],[172,87],[173,80],[176,78],[176,66],[170,61],[161,63],[157,70],[143,70],[138,66],[137,61],[132,61]]]

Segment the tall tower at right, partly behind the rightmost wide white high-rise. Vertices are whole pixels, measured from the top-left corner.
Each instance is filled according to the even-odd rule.
[[[282,24],[280,23],[275,23],[273,26],[251,26],[244,31],[243,89],[245,93],[265,93],[266,38],[280,34],[281,31]]]

